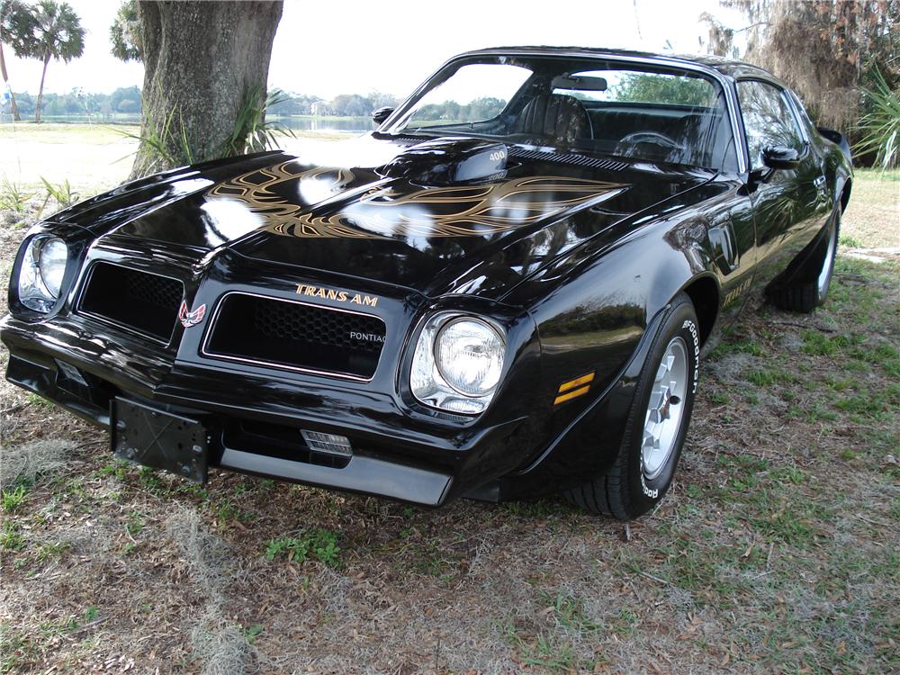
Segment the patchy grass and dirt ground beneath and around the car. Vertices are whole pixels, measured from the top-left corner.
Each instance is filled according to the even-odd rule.
[[[898,183],[869,182],[829,301],[752,303],[702,365],[671,493],[628,527],[201,489],[0,383],[0,672],[900,671],[900,266],[844,255],[897,246]],[[0,213],[4,276],[35,208]]]

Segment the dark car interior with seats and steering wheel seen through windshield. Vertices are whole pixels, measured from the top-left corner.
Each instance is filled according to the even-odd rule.
[[[736,166],[724,94],[712,81],[693,74],[608,66],[617,74],[649,76],[646,82],[650,91],[644,92],[647,100],[642,100],[641,95],[617,96],[617,86],[609,85],[605,78],[581,74],[585,70],[596,72],[596,62],[574,65],[556,59],[530,61],[527,67],[532,75],[500,114],[481,121],[430,124],[416,130],[500,137],[508,143],[585,150],[648,162],[716,169]],[[680,103],[690,98],[691,86],[696,98],[698,84],[708,88],[707,100]]]

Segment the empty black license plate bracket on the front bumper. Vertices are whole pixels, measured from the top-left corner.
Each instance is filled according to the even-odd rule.
[[[116,397],[112,400],[112,452],[127,462],[206,482],[209,435],[197,419]]]

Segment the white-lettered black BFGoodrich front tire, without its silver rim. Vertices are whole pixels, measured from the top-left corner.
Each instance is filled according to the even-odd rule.
[[[684,396],[672,405],[683,406],[679,426],[674,435],[671,452],[662,465],[648,478],[644,470],[644,424],[653,393],[654,380],[662,365],[662,356],[680,338],[686,347],[687,377]],[[565,493],[575,506],[593,513],[631,520],[653,509],[671,487],[681,448],[690,424],[691,411],[697,392],[700,337],[697,312],[686,293],[672,299],[665,311],[660,329],[638,378],[635,400],[628,411],[625,435],[619,446],[615,464],[606,473],[596,476],[581,487]]]

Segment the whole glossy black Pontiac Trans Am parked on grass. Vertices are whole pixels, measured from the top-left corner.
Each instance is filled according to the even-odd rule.
[[[711,335],[752,293],[828,292],[849,148],[757,67],[485,49],[374,119],[34,226],[8,380],[193,481],[562,491],[635,518],[671,485]]]

